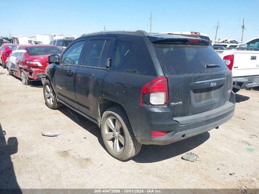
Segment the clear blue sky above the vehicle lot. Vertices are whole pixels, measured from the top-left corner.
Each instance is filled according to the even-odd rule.
[[[10,4],[10,3],[9,3]],[[2,6],[1,6],[2,7]],[[79,0],[13,0],[2,7],[0,36],[33,36],[64,34],[64,36],[107,30],[152,32],[195,31],[215,39],[229,36],[241,40],[242,21],[246,29],[243,41],[259,35],[258,0],[235,1],[79,1]]]

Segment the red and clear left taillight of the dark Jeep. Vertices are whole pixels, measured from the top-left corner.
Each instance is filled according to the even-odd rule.
[[[149,94],[149,99],[143,97]],[[147,100],[146,100],[147,99]],[[147,82],[141,89],[140,106],[167,106],[168,83],[166,77],[158,77]]]

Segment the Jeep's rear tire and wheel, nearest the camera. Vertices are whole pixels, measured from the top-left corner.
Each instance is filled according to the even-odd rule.
[[[123,108],[107,109],[101,119],[101,135],[105,147],[114,158],[127,160],[141,149],[132,131],[128,116]]]

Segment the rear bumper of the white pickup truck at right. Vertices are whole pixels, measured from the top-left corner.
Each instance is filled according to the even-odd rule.
[[[233,78],[233,88],[251,89],[257,86],[259,86],[259,75]]]

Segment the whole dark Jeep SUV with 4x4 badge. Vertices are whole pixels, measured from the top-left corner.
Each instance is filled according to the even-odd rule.
[[[119,160],[142,144],[166,145],[211,130],[234,114],[232,73],[193,37],[136,32],[82,35],[49,56],[44,98],[98,124]]]

